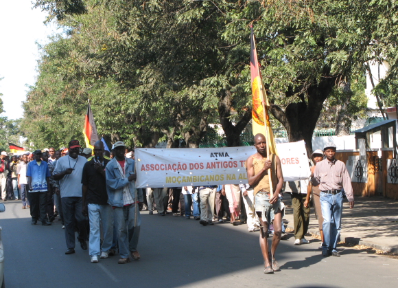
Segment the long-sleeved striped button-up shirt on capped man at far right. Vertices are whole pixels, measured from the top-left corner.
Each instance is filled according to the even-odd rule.
[[[312,185],[318,186],[320,191],[341,190],[347,195],[348,201],[354,201],[353,187],[347,168],[343,162],[334,159],[329,161],[324,159],[315,166]]]

